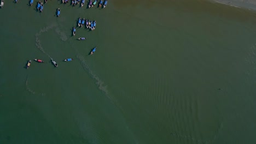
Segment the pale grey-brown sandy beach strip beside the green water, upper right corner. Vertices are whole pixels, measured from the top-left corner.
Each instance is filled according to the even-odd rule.
[[[256,10],[255,0],[212,0],[214,2],[227,4],[233,7],[245,8],[250,10]]]

